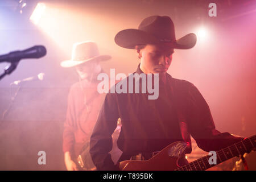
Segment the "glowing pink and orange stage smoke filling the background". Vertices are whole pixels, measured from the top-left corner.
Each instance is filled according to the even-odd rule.
[[[171,16],[176,38],[204,25],[208,30],[204,41],[189,50],[175,50],[168,73],[199,88],[218,130],[246,137],[255,134],[255,13],[223,22],[209,18],[207,6],[193,5],[193,1],[88,2],[48,2],[48,13],[38,26],[28,17],[22,19],[0,7],[1,15],[5,15],[0,24],[15,24],[0,26],[0,54],[39,43],[47,48],[45,57],[20,61],[14,73],[0,81],[1,117],[10,107],[0,123],[0,169],[65,169],[63,122],[69,87],[77,75],[72,69],[60,68],[60,62],[71,58],[73,43],[94,40],[102,55],[113,57],[102,63],[106,73],[110,68],[126,75],[134,72],[139,64],[135,51],[118,47],[114,36],[123,29],[138,28],[142,19],[157,14]],[[0,72],[6,65],[0,64]],[[46,73],[44,80],[26,82],[12,101],[19,87],[10,83],[40,72]],[[46,166],[37,163],[39,151],[46,151]]]

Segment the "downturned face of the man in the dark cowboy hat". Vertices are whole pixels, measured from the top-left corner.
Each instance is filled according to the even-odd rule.
[[[172,53],[174,48],[167,44],[147,44],[143,49],[137,49],[140,68],[144,73],[166,73],[172,62]]]

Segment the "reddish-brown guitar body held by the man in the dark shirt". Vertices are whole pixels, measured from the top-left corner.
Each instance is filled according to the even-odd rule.
[[[125,160],[119,163],[122,171],[172,171],[179,168],[178,161],[187,144],[174,142],[149,160]]]

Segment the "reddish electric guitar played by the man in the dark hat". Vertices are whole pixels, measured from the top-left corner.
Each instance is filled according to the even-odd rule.
[[[212,156],[207,155],[185,166],[179,166],[179,158],[184,154],[186,147],[185,142],[174,142],[149,160],[122,161],[118,163],[119,169],[122,171],[204,171],[234,156],[249,153],[256,147],[256,135],[216,151],[215,164],[210,164],[209,159]]]

